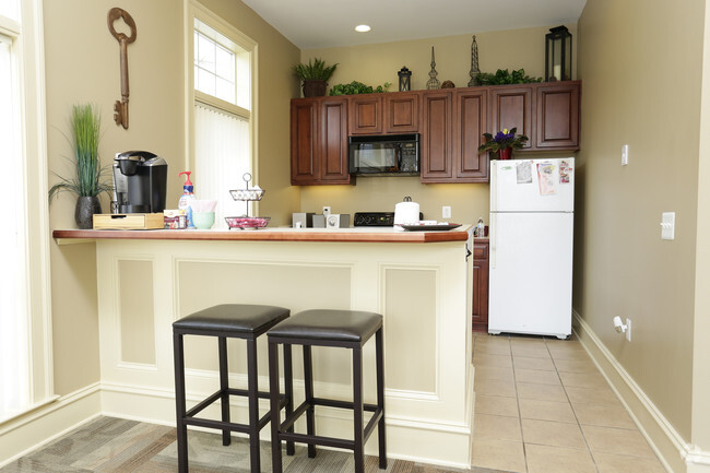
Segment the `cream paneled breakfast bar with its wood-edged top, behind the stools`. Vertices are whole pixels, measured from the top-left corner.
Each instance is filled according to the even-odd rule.
[[[388,454],[469,468],[470,228],[55,230],[54,237],[60,245],[96,241],[105,414],[175,424],[171,323],[193,311],[226,303],[276,305],[292,314],[369,310],[384,317]],[[246,388],[242,343],[229,341],[229,371],[232,386]],[[259,386],[268,390],[265,339],[259,345]],[[300,355],[294,356],[298,403],[303,373]],[[347,351],[315,347],[313,363],[316,395],[352,399]],[[216,341],[186,338],[186,366],[188,403],[217,390]],[[365,346],[364,366],[365,401],[374,402],[374,343]],[[233,400],[233,411],[245,419],[246,401]],[[316,413],[319,434],[352,431],[347,412]],[[376,454],[376,447],[370,439],[366,451]]]

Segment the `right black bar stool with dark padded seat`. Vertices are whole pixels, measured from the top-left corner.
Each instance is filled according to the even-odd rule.
[[[377,364],[377,405],[363,402],[363,346],[375,334]],[[273,457],[272,471],[282,473],[281,441],[308,444],[308,457],[316,457],[316,446],[335,447],[353,450],[355,472],[365,471],[365,442],[378,426],[379,466],[387,468],[384,446],[384,366],[382,356],[382,316],[374,312],[354,310],[305,310],[279,323],[267,332],[269,339],[269,381],[271,393],[271,450]],[[305,401],[286,412],[283,423],[279,412],[279,359],[277,347],[284,350],[291,345],[303,345],[304,351],[304,385]],[[313,395],[313,369],[311,346],[340,346],[353,351],[353,402],[316,398]],[[292,368],[291,360],[284,359],[284,371]],[[286,383],[291,382],[286,380]],[[288,389],[288,388],[287,388]],[[292,391],[293,392],[293,391]],[[315,406],[353,410],[354,439],[322,437],[316,435]],[[363,411],[372,412],[372,417],[366,426],[363,422]],[[293,431],[296,419],[306,413],[307,434]]]

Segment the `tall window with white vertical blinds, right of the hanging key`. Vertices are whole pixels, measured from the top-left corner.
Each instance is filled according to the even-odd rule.
[[[216,200],[215,228],[226,228],[225,216],[253,212],[237,202],[230,189],[246,186],[253,175],[252,70],[256,44],[233,26],[192,4],[191,133],[194,193]],[[250,182],[255,186],[256,182]]]

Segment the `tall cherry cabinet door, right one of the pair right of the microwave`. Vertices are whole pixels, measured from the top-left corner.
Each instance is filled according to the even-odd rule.
[[[453,96],[453,172],[459,182],[488,181],[488,153],[478,153],[487,130],[488,91],[459,91]]]

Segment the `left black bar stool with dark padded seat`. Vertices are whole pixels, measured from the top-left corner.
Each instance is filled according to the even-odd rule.
[[[270,419],[268,413],[259,418],[259,398],[269,399],[269,392],[260,392],[257,373],[257,338],[280,321],[287,319],[291,311],[283,307],[259,306],[245,304],[224,304],[191,314],[173,323],[173,350],[175,356],[175,402],[177,411],[177,450],[178,471],[188,472],[188,425],[215,428],[222,430],[222,445],[232,441],[230,431],[249,435],[251,472],[261,471],[259,456],[259,431]],[[184,335],[216,336],[220,352],[220,390],[194,407],[186,412],[185,399],[185,346]],[[247,341],[247,389],[232,389],[228,386],[227,369],[227,338]],[[291,350],[284,350],[284,365],[291,366]],[[276,386],[276,402],[279,412],[286,407],[286,414],[293,411],[292,373],[285,369],[286,391],[279,393]],[[241,395],[249,399],[249,423],[236,424],[229,422],[229,397]],[[222,421],[196,417],[210,404],[221,401]],[[293,451],[293,442],[288,446]]]

